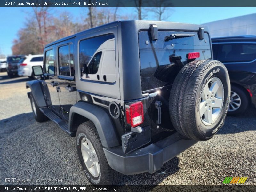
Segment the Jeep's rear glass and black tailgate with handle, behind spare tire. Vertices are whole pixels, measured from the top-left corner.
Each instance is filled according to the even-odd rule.
[[[158,31],[158,39],[153,41],[150,31],[139,33],[141,91],[149,93],[153,140],[168,136],[162,134],[165,131],[174,130],[169,96],[180,69],[195,59],[212,58],[209,35],[204,33],[199,38],[199,31]]]

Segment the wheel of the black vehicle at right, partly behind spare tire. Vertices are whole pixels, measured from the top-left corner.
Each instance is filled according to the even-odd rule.
[[[238,115],[244,113],[248,108],[248,104],[249,100],[246,92],[238,86],[231,86],[228,115]]]

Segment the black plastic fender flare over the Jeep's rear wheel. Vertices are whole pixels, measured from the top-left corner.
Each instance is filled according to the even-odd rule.
[[[119,146],[118,136],[115,126],[108,111],[102,107],[96,106],[89,102],[80,101],[70,108],[69,112],[69,131],[72,129],[74,114],[79,114],[91,120],[98,131],[101,144],[103,147]]]

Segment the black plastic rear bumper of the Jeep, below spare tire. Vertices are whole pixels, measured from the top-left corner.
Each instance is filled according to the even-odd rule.
[[[147,147],[124,154],[122,146],[103,148],[109,166],[124,175],[154,173],[164,163],[194,145],[195,140],[184,140],[175,133]]]

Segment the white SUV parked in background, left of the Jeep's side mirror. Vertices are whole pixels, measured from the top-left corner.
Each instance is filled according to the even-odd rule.
[[[36,65],[43,67],[43,55],[28,55],[23,57],[18,63],[18,75],[36,78],[32,72],[32,66]]]

